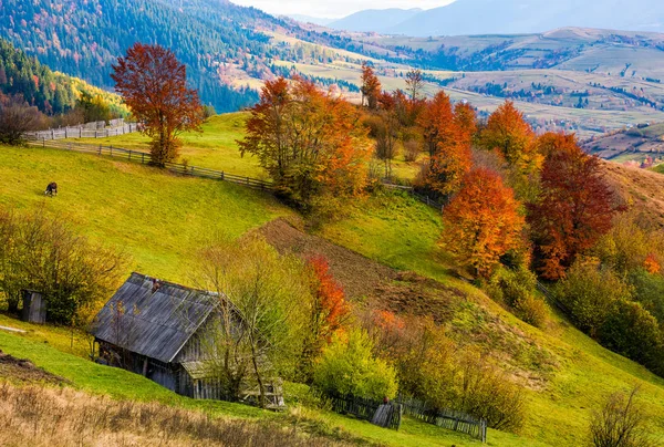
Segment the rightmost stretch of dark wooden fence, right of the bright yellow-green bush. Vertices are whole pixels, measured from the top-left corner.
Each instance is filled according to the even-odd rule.
[[[425,403],[412,397],[400,396],[395,402],[401,405],[405,415],[438,427],[465,433],[483,443],[487,441],[487,422],[485,419],[477,419],[454,409],[432,409]]]

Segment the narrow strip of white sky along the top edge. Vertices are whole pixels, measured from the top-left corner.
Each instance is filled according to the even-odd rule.
[[[255,7],[274,15],[303,14],[336,19],[364,9],[422,8],[430,9],[454,0],[230,0],[245,7]]]

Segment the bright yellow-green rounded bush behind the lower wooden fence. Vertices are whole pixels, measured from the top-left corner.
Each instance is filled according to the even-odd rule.
[[[396,372],[373,353],[364,331],[336,335],[314,367],[313,385],[328,394],[382,399],[396,396]]]

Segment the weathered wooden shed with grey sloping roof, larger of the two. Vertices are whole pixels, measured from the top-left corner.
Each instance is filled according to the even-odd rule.
[[[220,324],[218,302],[216,293],[132,273],[95,319],[100,358],[185,396],[226,399],[201,347]]]

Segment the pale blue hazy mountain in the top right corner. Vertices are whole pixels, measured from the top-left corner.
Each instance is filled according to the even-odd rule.
[[[662,0],[457,0],[373,31],[413,37],[537,33],[562,27],[664,32]]]

